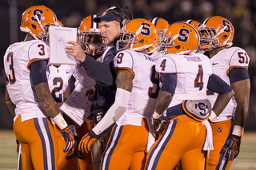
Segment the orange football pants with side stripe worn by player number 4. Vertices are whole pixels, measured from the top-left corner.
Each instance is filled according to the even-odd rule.
[[[173,169],[179,160],[186,170],[203,170],[206,128],[201,122],[181,115],[166,126],[146,156],[146,169]]]

